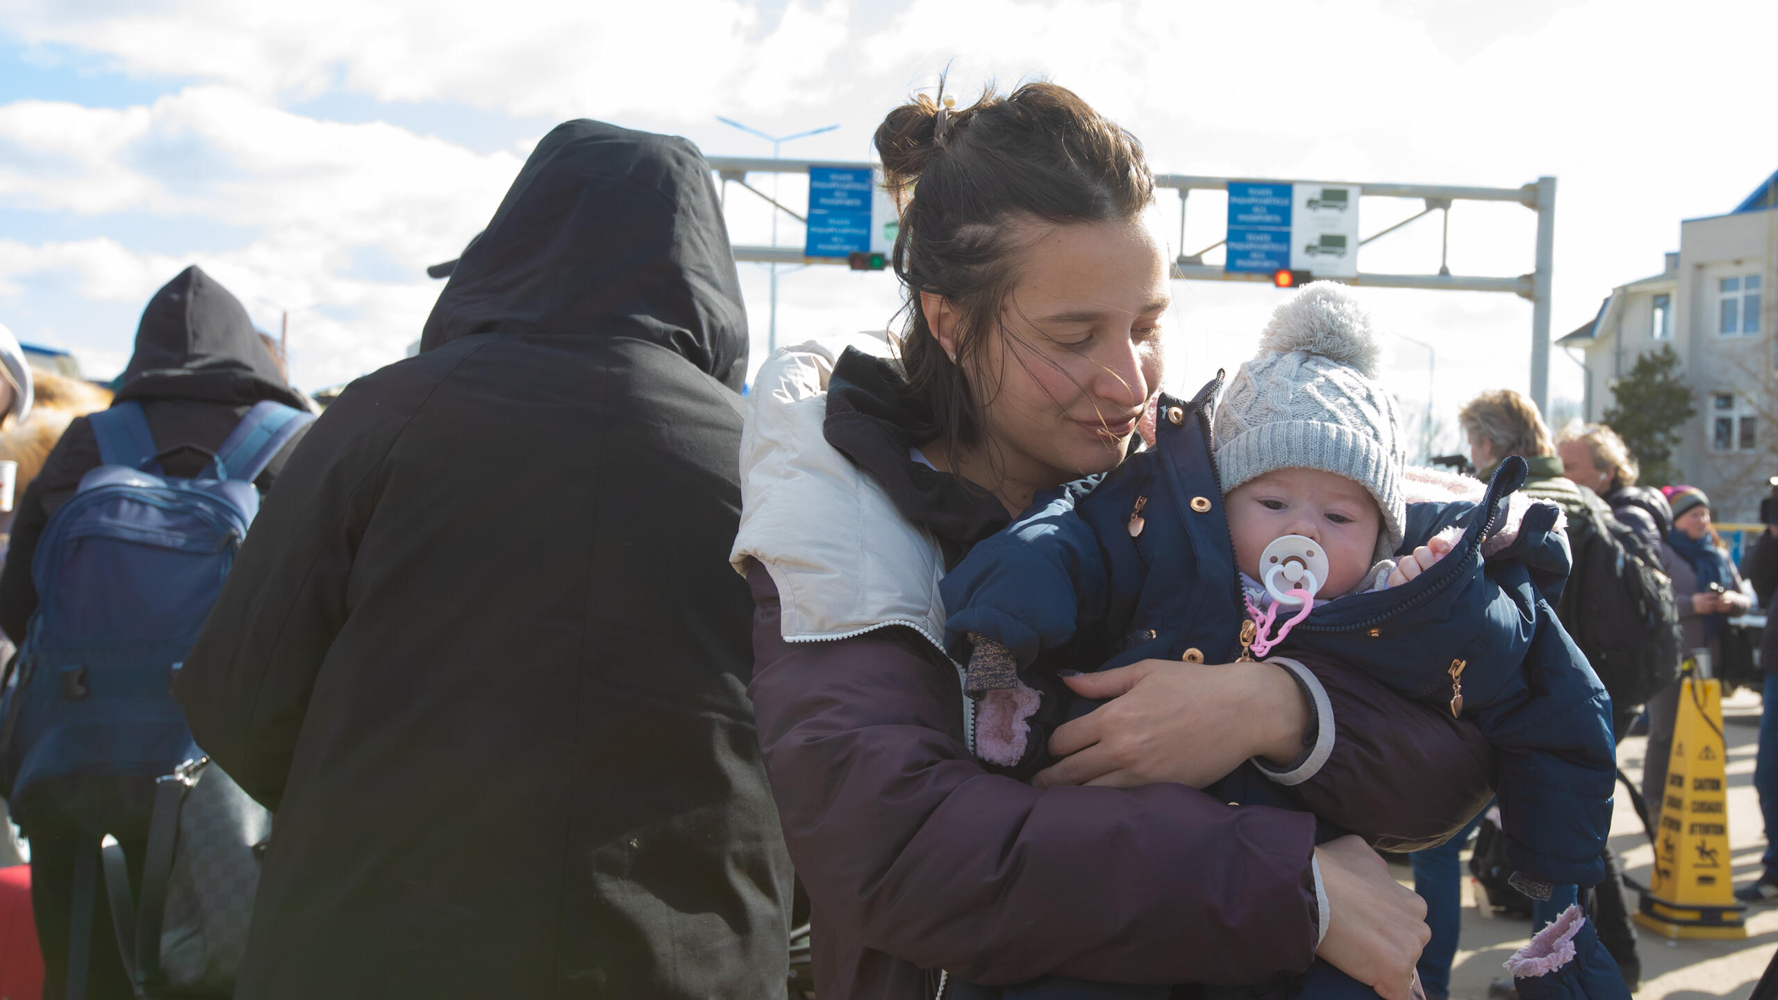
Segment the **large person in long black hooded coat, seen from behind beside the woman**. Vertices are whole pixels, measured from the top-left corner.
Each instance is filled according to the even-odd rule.
[[[236,996],[782,996],[747,322],[683,139],[557,126],[290,463],[178,696],[277,829]]]

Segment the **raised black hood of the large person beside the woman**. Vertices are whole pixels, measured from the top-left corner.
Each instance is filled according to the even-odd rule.
[[[420,349],[480,333],[647,340],[740,391],[747,311],[697,148],[597,121],[555,126],[464,249]]]

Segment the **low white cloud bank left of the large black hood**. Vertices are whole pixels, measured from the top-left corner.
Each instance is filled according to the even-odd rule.
[[[36,279],[142,304],[196,262],[263,327],[292,313],[292,363],[306,386],[402,356],[439,290],[425,265],[455,256],[521,164],[382,123],[316,121],[217,85],[126,110],[0,105],[0,144],[37,153],[0,167],[0,205],[146,212],[169,228],[212,221],[251,233],[247,246],[190,258],[112,238],[0,242],[0,297]],[[366,262],[380,274],[364,276]],[[84,335],[116,343],[121,333]]]

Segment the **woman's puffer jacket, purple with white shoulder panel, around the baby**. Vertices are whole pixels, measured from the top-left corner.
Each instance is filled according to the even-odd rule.
[[[916,400],[891,375],[857,352],[837,367],[820,345],[781,352],[756,381],[743,452],[750,690],[814,907],[820,995],[925,1000],[939,970],[987,984],[1261,984],[1307,968],[1312,817],[1184,785],[1040,792],[974,760],[935,585],[941,550],[967,550],[1005,514],[909,459]],[[811,616],[834,591],[862,594],[862,617]],[[1472,724],[1341,665],[1319,680],[1317,719],[1335,733],[1298,785],[1314,810],[1351,824],[1378,813],[1437,840],[1486,802],[1490,754]]]

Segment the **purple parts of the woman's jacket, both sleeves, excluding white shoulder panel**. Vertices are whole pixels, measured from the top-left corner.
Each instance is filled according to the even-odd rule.
[[[866,400],[889,415],[880,448],[853,436],[864,422],[836,425],[862,406],[839,413],[846,390],[871,395],[864,361],[843,381],[848,359],[834,368],[827,438],[882,482],[903,518],[932,530],[944,518],[903,500],[935,493],[907,482],[925,472],[903,468],[912,463],[894,406],[905,399]],[[990,774],[969,751],[962,683],[937,646],[905,626],[786,642],[772,577],[752,562],[747,580],[749,690],[813,907],[823,998],[932,996],[937,970],[980,984],[1054,973],[1257,986],[1310,964],[1312,815],[1229,806],[1184,785],[1040,792]],[[1309,810],[1348,827],[1382,817],[1437,843],[1488,801],[1494,760],[1474,724],[1353,669],[1317,667],[1316,678],[1335,738],[1294,786]]]

